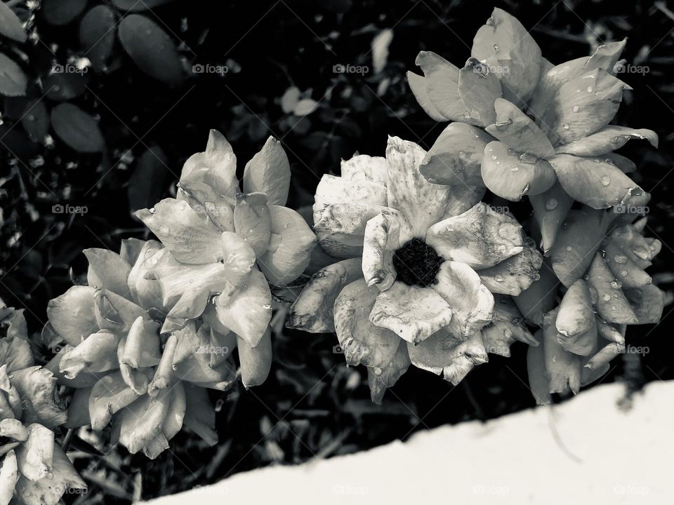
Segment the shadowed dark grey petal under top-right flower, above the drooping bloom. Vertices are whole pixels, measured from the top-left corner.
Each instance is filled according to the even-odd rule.
[[[571,210],[550,249],[550,260],[562,284],[571,286],[590,266],[607,229],[606,215],[598,210]]]

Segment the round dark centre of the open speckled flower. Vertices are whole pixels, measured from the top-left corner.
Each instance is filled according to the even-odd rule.
[[[435,276],[444,258],[421,238],[412,238],[393,253],[397,281],[426,287],[437,283]]]

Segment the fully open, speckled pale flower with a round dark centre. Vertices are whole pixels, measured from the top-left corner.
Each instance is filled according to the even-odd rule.
[[[314,274],[291,307],[289,326],[336,331],[376,401],[410,363],[456,384],[488,352],[536,344],[509,295],[538,279],[541,253],[512,215],[480,201],[484,190],[425,180],[425,156],[391,137],[385,158],[355,156],[341,177],[323,176],[314,229],[346,259]]]

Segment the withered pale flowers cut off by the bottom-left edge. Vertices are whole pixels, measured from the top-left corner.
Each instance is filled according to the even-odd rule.
[[[56,379],[36,366],[22,311],[0,300],[0,504],[55,505],[86,484],[55,443],[67,413]]]

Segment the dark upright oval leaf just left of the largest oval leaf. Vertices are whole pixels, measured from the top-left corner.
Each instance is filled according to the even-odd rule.
[[[112,53],[116,29],[114,12],[108,6],[95,6],[82,18],[79,43],[86,50],[83,56],[89,58],[95,69],[105,69],[105,63]]]

